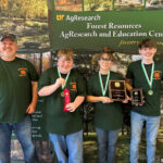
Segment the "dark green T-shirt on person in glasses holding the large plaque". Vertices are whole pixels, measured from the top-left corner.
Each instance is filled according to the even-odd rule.
[[[101,75],[103,86],[105,86],[106,75]],[[110,79],[122,79],[122,75],[111,72]],[[87,85],[88,96],[101,97],[99,73],[92,75]],[[109,97],[109,89],[105,93]],[[105,130],[115,130],[122,127],[123,114],[121,102],[102,103],[95,102],[95,126]]]

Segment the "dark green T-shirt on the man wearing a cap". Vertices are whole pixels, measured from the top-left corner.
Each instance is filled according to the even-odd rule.
[[[33,64],[15,58],[0,59],[0,123],[17,123],[25,118],[32,101],[32,82],[38,79]]]

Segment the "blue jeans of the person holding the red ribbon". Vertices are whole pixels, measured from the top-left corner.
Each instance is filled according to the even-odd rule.
[[[83,130],[70,135],[49,134],[59,163],[83,163]]]

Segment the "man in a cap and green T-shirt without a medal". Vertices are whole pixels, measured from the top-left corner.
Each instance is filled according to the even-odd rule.
[[[11,134],[21,142],[26,163],[36,162],[32,121],[37,103],[38,75],[26,60],[16,58],[15,35],[0,38],[0,163],[10,163]]]

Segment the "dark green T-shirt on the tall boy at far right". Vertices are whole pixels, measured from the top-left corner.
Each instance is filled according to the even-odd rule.
[[[147,116],[160,115],[161,80],[163,78],[163,62],[154,62],[154,76],[152,90],[153,95],[148,95],[150,87],[141,67],[141,61],[130,63],[126,78],[131,79],[134,88],[142,88],[145,104],[142,106],[133,105],[133,111]],[[145,64],[148,76],[151,75],[152,64]]]

